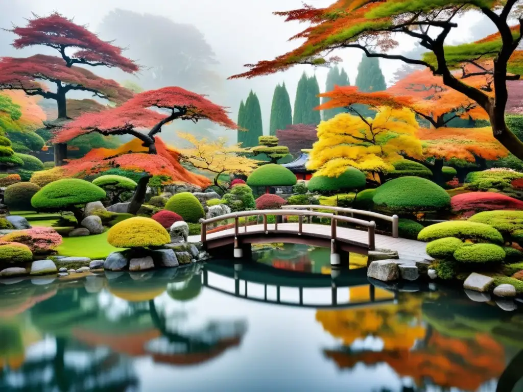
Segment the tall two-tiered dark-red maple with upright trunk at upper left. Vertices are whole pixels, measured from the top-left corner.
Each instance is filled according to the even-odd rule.
[[[96,97],[116,103],[132,97],[132,91],[120,86],[115,80],[101,78],[86,68],[76,66],[118,67],[128,73],[139,70],[137,64],[122,55],[122,48],[101,40],[72,19],[56,12],[46,17],[33,14],[26,27],[15,26],[9,31],[18,36],[13,42],[17,49],[44,45],[57,50],[60,56],[37,54],[26,58],[2,57],[0,89],[21,89],[27,95],[55,100],[59,119],[68,118],[66,94],[71,90],[88,91]],[[77,50],[68,54],[71,48]],[[63,164],[66,151],[65,144],[55,146],[56,165]]]

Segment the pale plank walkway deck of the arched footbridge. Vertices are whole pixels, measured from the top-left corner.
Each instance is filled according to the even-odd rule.
[[[268,224],[267,229],[269,232],[275,231],[274,224]],[[247,226],[248,232],[257,232],[263,230],[263,224]],[[292,230],[298,232],[298,223],[279,223],[278,230]],[[240,227],[240,233],[245,233],[245,227]],[[319,224],[303,224],[303,233],[311,235],[331,235],[331,226],[319,225]],[[207,240],[213,238],[219,238],[224,236],[234,236],[234,229],[226,229],[221,232],[208,233]],[[368,243],[368,233],[367,231],[357,230],[354,228],[348,227],[339,227],[337,228],[337,238],[348,239],[352,241],[357,241],[359,243],[367,244]],[[200,236],[189,236],[189,241],[198,242]],[[396,250],[400,259],[402,261],[419,261],[423,259],[430,259],[430,257],[425,252],[426,248],[425,243],[416,241],[413,239],[405,238],[392,238],[389,236],[376,234],[376,248],[377,249],[390,249]]]

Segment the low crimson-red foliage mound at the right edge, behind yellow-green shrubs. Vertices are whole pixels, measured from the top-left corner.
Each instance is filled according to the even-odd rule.
[[[523,210],[523,201],[495,192],[469,192],[450,200],[454,212],[473,214],[481,211]]]

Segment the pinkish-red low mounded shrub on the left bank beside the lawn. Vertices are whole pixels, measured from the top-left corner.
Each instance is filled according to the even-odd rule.
[[[51,227],[33,227],[6,234],[0,240],[27,245],[33,255],[52,255],[62,243],[62,236]]]

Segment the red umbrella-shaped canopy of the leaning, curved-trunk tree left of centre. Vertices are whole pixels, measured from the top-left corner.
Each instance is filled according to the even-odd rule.
[[[237,129],[225,108],[207,98],[181,87],[164,87],[135,95],[122,106],[98,113],[86,113],[70,122],[53,138],[54,143],[65,143],[89,132],[124,134],[137,128],[152,128],[167,121],[171,113],[160,113],[149,108],[170,109],[175,114],[186,111],[182,120],[209,120],[225,128]],[[168,122],[168,121],[167,121]]]

